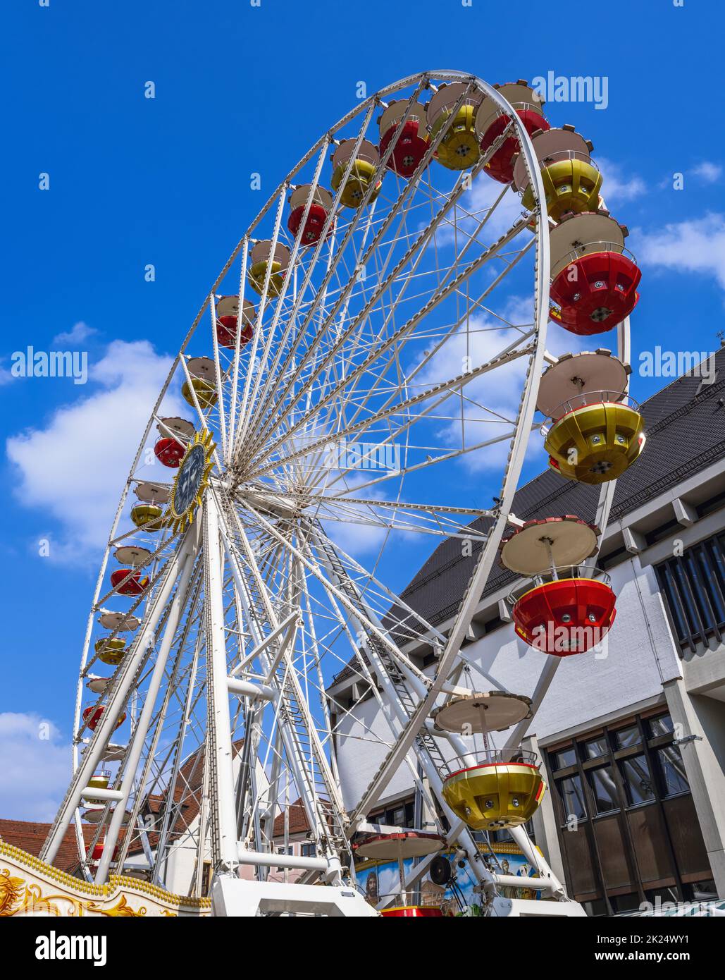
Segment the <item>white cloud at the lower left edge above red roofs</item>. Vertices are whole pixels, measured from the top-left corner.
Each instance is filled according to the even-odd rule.
[[[32,712],[0,713],[0,815],[49,821],[71,778],[71,748],[56,726]]]

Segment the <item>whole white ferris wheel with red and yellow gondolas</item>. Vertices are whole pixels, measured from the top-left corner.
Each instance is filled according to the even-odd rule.
[[[543,781],[520,744],[561,656],[597,642],[572,631],[613,621],[592,564],[644,442],[626,368],[639,271],[591,149],[524,81],[421,73],[361,101],[275,190],[183,338],[122,488],[43,858],[74,818],[96,883],[140,855],[153,884],[173,874],[198,896],[209,856],[217,910],[376,914],[358,854],[455,845],[493,909],[506,876],[475,835],[509,827],[566,905],[522,826]],[[553,357],[550,317],[580,335],[616,326],[618,356]],[[561,478],[602,484],[598,526],[511,515],[537,409]],[[474,570],[444,634],[402,592],[447,539]],[[548,655],[530,698],[460,687],[497,561],[532,578],[511,597],[518,635]],[[418,641],[432,672],[406,652]],[[333,717],[345,666],[359,693]],[[351,803],[335,734],[367,698],[383,761]],[[436,834],[368,822],[406,766]],[[274,821],[296,801],[309,853],[279,855]],[[299,880],[272,882],[277,867]]]

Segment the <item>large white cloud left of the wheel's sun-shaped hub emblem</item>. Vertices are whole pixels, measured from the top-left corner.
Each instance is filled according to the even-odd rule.
[[[45,427],[8,439],[7,455],[19,473],[20,501],[61,525],[58,541],[51,537],[52,560],[85,563],[105,546],[170,363],[146,340],[116,340],[90,368],[92,394],[58,409]],[[176,400],[168,399],[165,406],[167,414],[179,414]],[[153,472],[157,479],[158,470],[156,466]]]

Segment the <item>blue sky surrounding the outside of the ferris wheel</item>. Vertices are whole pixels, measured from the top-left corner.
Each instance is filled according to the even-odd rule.
[[[600,14],[582,10],[577,29],[573,8],[532,4],[512,16],[513,8],[484,0],[4,6],[0,754],[15,768],[0,778],[0,816],[47,817],[65,783],[95,580],[92,563],[73,560],[78,525],[67,517],[97,511],[86,530],[96,518],[108,527],[107,461],[121,455],[127,468],[132,451],[106,444],[103,413],[128,417],[135,448],[134,399],[158,387],[165,356],[177,350],[233,245],[278,181],[353,106],[361,80],[369,93],[425,69],[491,82],[549,71],[606,76],[604,111],[577,103],[547,112],[594,141],[607,205],[630,227],[644,273],[633,346],[717,345],[725,295],[722,8],[609,0]],[[153,100],[144,97],[149,80]],[[42,172],[47,191],[38,188]],[[250,189],[251,172],[262,174],[261,192]],[[672,187],[676,172],[684,174],[682,190]],[[144,280],[147,264],[155,282]],[[94,366],[88,385],[8,376],[11,355],[27,344],[73,343]],[[633,394],[642,400],[665,382],[636,377]],[[82,435],[77,426],[64,429],[64,410],[94,393],[107,397],[88,405]],[[19,467],[8,446],[28,431],[47,438],[32,443],[34,459]],[[64,432],[94,441],[97,472],[73,470]],[[119,484],[112,497],[120,492]],[[66,551],[41,558],[43,538]],[[84,553],[88,547],[78,542]],[[35,715],[57,729],[40,761],[27,734]]]

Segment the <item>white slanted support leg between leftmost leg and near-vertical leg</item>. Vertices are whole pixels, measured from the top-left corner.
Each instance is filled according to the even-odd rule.
[[[178,586],[169,609],[169,616],[164,628],[164,638],[161,642],[161,646],[159,647],[159,653],[156,658],[156,663],[154,664],[153,673],[151,674],[151,680],[149,681],[149,686],[146,691],[146,697],[144,698],[143,708],[141,709],[141,714],[136,723],[133,735],[131,736],[131,742],[124,760],[121,798],[118,800],[114,808],[114,815],[111,818],[111,823],[109,824],[108,833],[106,834],[106,840],[103,846],[103,854],[98,861],[98,868],[96,870],[95,878],[97,885],[103,884],[108,875],[109,867],[111,865],[111,858],[113,857],[114,850],[116,849],[116,844],[119,839],[119,832],[121,830],[128,798],[134,786],[136,769],[138,768],[138,763],[141,760],[146,734],[149,730],[149,725],[151,724],[154,708],[156,707],[156,699],[166,673],[167,661],[169,660],[169,651],[171,649],[171,644],[173,643],[173,637],[181,617],[181,612],[186,602],[186,594],[189,587],[189,582],[191,580],[191,574],[194,570],[194,562],[191,552],[198,546],[197,531],[198,527],[192,527],[192,540],[190,542],[191,549],[184,555],[184,558],[181,561]],[[139,792],[143,792],[143,787],[139,787]],[[121,854],[121,860],[122,858],[123,855]]]

